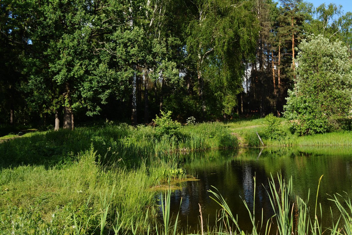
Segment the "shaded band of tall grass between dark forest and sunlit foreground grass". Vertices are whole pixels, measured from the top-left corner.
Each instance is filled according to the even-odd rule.
[[[91,147],[97,151],[97,157],[101,156],[101,163],[121,161],[127,168],[133,168],[155,156],[163,158],[170,153],[237,146],[237,138],[221,123],[186,126],[181,128],[180,136],[161,137],[156,136],[151,126],[106,124],[73,131],[38,132],[0,143],[0,168],[65,165]]]

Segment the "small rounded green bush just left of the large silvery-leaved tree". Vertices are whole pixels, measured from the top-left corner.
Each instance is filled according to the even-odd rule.
[[[275,117],[272,113],[265,116],[263,119],[263,137],[278,140],[286,135],[284,131],[281,131],[279,126],[281,125],[281,120]]]

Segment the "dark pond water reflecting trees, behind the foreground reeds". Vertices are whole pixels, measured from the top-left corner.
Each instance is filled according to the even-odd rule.
[[[171,194],[171,211],[174,213],[174,218],[180,208],[178,226],[188,232],[200,230],[199,204],[205,227],[216,225],[221,207],[210,198],[214,197],[213,194],[208,192],[209,189],[216,191],[215,188],[226,198],[232,214],[238,215],[242,230],[252,230],[249,212],[243,200],[251,212],[254,206],[259,225],[263,209],[265,227],[266,221],[274,215],[267,192],[270,192],[269,179],[272,174],[277,183],[278,172],[281,172],[287,181],[292,177],[291,202],[296,199],[296,196],[306,200],[310,192],[309,206],[312,217],[319,178],[323,175],[318,194],[318,217],[320,220],[319,203],[321,203],[323,227],[331,227],[332,221],[337,221],[340,216],[335,204],[328,198],[332,198],[335,193],[352,198],[352,147],[247,148],[191,153],[181,157],[187,174],[199,179],[199,181],[182,183],[182,190],[175,190]],[[255,204],[253,203],[254,176],[256,177]],[[276,229],[272,233],[276,234]]]

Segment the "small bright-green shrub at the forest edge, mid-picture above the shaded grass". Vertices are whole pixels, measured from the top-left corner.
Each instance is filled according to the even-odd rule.
[[[158,137],[161,136],[179,136],[180,135],[180,129],[181,129],[181,123],[177,121],[173,121],[171,119],[171,111],[168,111],[167,113],[164,113],[161,111],[161,117],[156,116],[153,121],[156,124],[156,134]]]

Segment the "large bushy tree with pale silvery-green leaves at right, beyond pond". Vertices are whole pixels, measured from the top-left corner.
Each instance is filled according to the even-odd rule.
[[[351,119],[352,63],[341,42],[323,36],[299,45],[296,84],[289,91],[285,117],[291,130],[312,135],[339,130]]]

